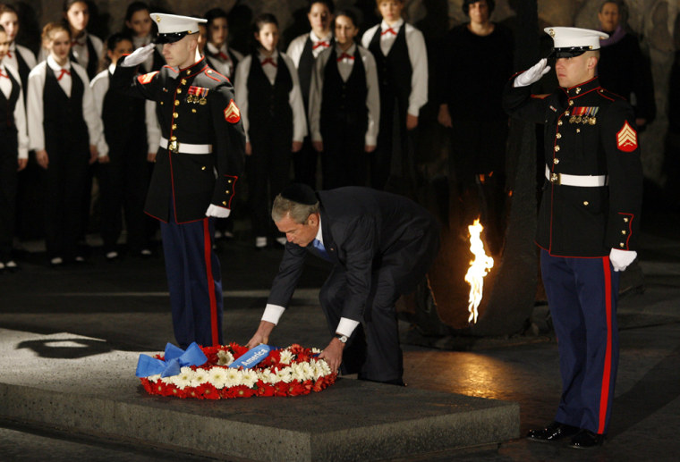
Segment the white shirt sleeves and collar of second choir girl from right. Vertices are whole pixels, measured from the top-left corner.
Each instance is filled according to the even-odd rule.
[[[346,52],[336,45],[336,59],[345,53],[346,55],[354,55],[357,49],[356,44],[347,48]],[[380,90],[378,89],[378,71],[376,69],[376,60],[371,55],[370,51],[362,46],[359,46],[359,55],[361,56],[361,63],[366,73],[366,107],[368,108],[369,125],[366,129],[367,146],[376,146],[378,140],[378,127],[380,125]],[[330,59],[331,49],[328,48],[324,53],[317,58],[315,69],[311,74],[311,89],[310,89],[310,134],[312,141],[323,141],[321,137],[321,105],[323,104],[323,80],[326,74],[326,65]],[[337,71],[343,81],[347,81],[352,74],[354,68],[354,60],[343,58],[337,62]]]

